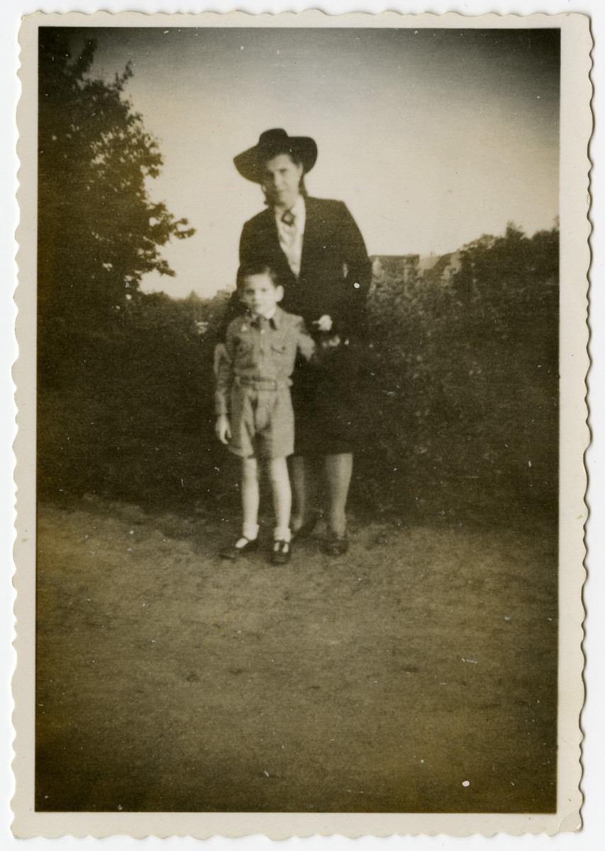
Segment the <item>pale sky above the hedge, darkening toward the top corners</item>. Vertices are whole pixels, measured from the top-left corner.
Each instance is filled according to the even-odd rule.
[[[80,31],[81,33],[83,31]],[[84,33],[87,34],[87,33]],[[90,35],[90,31],[88,31]],[[154,201],[196,234],[163,248],[184,297],[234,287],[264,208],[233,157],[265,129],[313,137],[311,195],[348,205],[369,254],[444,254],[558,214],[556,30],[95,28],[91,76],[125,93],[163,153]]]

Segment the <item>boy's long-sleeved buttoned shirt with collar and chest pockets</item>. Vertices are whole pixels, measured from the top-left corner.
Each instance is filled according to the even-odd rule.
[[[216,414],[228,413],[231,386],[238,379],[250,386],[256,381],[275,381],[277,388],[290,386],[296,355],[300,352],[308,360],[314,349],[303,318],[281,307],[270,319],[249,314],[237,317],[227,327],[225,345],[215,364]]]

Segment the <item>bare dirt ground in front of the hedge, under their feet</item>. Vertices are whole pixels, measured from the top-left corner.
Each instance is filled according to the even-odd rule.
[[[37,809],[552,811],[556,531],[351,530],[284,568],[201,512],[41,505]]]

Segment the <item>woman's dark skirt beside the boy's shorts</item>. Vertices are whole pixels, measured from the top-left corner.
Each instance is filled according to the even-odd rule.
[[[294,454],[355,452],[359,398],[357,346],[320,351],[311,363],[298,363],[292,376]]]

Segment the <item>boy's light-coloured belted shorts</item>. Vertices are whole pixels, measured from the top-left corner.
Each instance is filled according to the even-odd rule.
[[[287,458],[294,453],[294,410],[290,388],[231,389],[229,451],[241,458]]]

